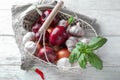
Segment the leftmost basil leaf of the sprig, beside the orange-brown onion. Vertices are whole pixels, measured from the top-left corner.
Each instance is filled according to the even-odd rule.
[[[70,63],[74,63],[80,57],[80,51],[77,48],[74,48],[69,56]]]

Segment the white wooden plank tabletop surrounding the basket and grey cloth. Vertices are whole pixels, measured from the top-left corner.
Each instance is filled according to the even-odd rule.
[[[12,31],[11,5],[37,0],[0,1],[0,80],[40,80],[34,72],[20,69],[20,52]],[[83,80],[120,80],[120,0],[64,0],[70,9],[95,17],[95,29],[108,38],[98,55],[104,62],[101,71],[89,67]],[[31,76],[32,75],[32,76]],[[54,75],[53,75],[54,77]]]

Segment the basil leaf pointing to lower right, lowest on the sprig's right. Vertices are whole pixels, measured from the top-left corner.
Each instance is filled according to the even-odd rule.
[[[88,61],[96,69],[101,70],[103,68],[102,60],[94,53],[88,54]]]

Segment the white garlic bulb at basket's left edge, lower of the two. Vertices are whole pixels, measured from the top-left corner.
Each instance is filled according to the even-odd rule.
[[[36,44],[33,41],[27,41],[24,46],[24,50],[28,53],[33,53],[36,49]]]

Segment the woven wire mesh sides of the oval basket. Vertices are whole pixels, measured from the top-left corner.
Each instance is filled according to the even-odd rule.
[[[52,9],[52,7],[49,7],[49,6],[39,7],[39,9],[40,10],[46,10],[46,9]],[[74,16],[74,15],[76,16],[77,15],[75,12],[73,12],[73,13],[74,14],[71,15],[71,14],[65,13],[61,10],[61,11],[59,11],[58,15],[59,15],[60,19],[68,20],[68,18],[70,16]],[[32,10],[28,11],[27,13],[25,13],[24,16],[21,17],[20,22],[18,23],[18,25],[20,25],[21,28],[20,29],[15,29],[16,32],[21,31],[22,36],[19,38],[20,40],[23,38],[23,36],[25,35],[26,32],[31,31],[32,24],[38,18],[39,18],[39,14],[35,9],[32,9]],[[91,38],[93,36],[97,36],[97,33],[96,33],[95,29],[89,23],[87,23],[86,21],[84,21],[80,18],[74,17],[74,19],[75,20],[71,25],[75,25],[77,22],[80,22],[80,27],[82,27],[85,30],[85,33],[86,33],[85,37]],[[19,34],[19,33],[16,33],[16,34]],[[19,44],[21,44],[21,43],[19,43]],[[39,59],[38,57],[35,57],[31,53],[25,52],[23,47],[24,47],[23,44],[19,45],[20,51],[22,52],[22,54],[24,55],[24,57],[26,59],[26,60],[24,60],[26,62],[23,63],[23,64],[26,64],[26,65],[22,65],[22,68],[27,67],[27,69],[28,69],[30,66],[33,66],[33,65],[29,65],[29,63],[30,64],[38,63],[37,65],[40,64],[40,66],[43,67],[43,68],[49,68],[49,69],[53,69],[53,70],[56,70],[56,71],[60,71],[60,70],[58,70],[59,68],[56,65],[49,64],[49,63]],[[26,58],[26,56],[27,56],[27,58]],[[66,70],[67,70],[67,72],[73,72],[73,71],[82,72],[82,70],[78,66],[77,67],[64,68],[64,72],[66,72]]]

